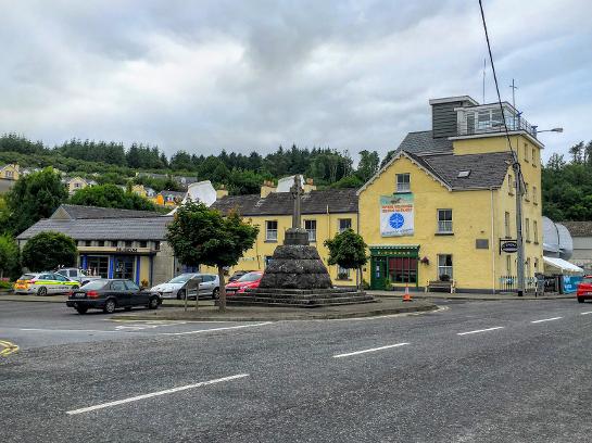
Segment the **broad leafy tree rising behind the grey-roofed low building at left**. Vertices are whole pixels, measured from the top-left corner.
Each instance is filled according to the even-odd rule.
[[[115,185],[98,185],[79,189],[70,198],[70,203],[121,210],[156,211],[156,206],[148,199],[124,191]]]

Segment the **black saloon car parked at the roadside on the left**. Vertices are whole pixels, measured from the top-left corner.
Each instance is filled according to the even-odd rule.
[[[101,279],[72,291],[66,306],[74,307],[79,314],[85,314],[88,309],[103,309],[112,314],[118,307],[126,311],[134,306],[156,309],[161,303],[158,293],[141,290],[131,280]]]

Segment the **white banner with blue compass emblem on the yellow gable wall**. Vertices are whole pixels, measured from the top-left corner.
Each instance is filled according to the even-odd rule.
[[[380,235],[382,237],[413,236],[413,194],[380,197]]]

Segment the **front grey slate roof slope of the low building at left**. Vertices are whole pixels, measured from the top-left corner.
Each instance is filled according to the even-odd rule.
[[[164,240],[166,226],[173,217],[91,218],[60,220],[45,218],[25,230],[17,240],[27,240],[39,232],[61,232],[74,240]]]

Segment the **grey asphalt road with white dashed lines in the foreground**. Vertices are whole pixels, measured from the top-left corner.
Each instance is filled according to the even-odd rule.
[[[589,303],[181,325],[23,305],[0,303],[21,346],[0,357],[3,442],[591,441]]]

